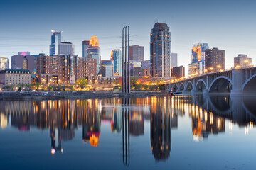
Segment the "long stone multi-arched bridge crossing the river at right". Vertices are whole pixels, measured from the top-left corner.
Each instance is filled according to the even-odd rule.
[[[230,69],[191,77],[169,84],[169,91],[182,94],[256,94],[256,67]]]

